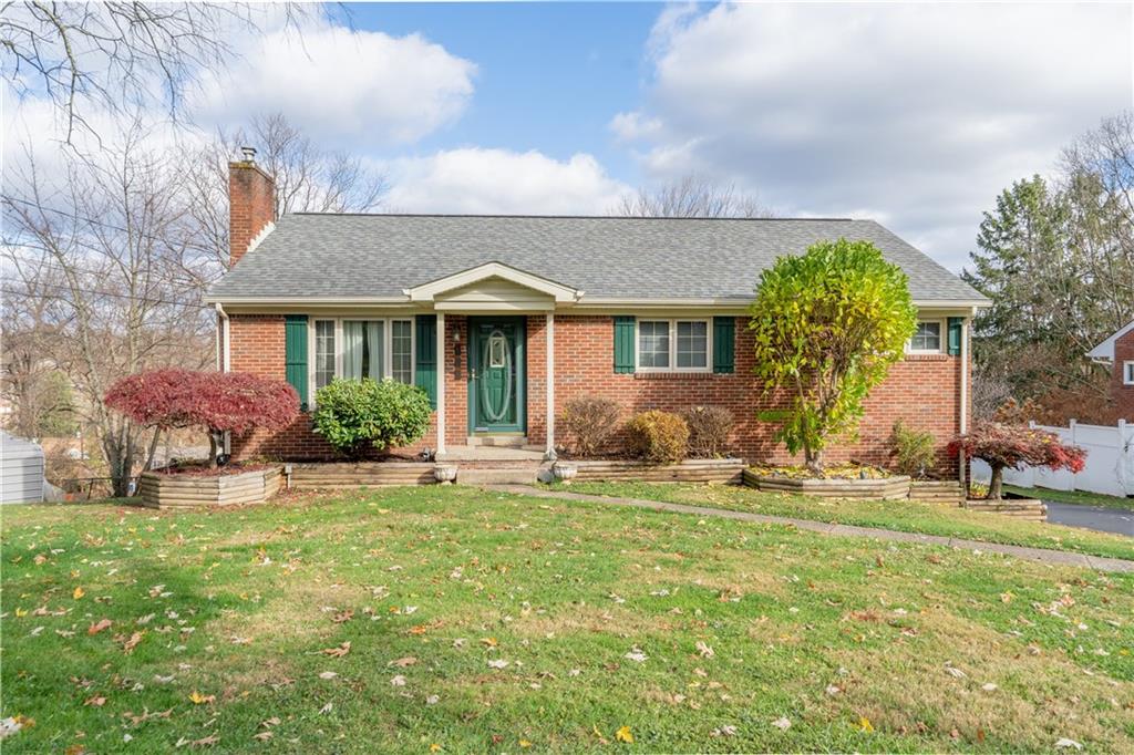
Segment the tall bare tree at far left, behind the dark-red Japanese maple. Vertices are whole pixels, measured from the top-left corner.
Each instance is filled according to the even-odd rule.
[[[65,180],[49,180],[28,154],[8,177],[3,255],[17,277],[5,299],[35,314],[24,336],[49,346],[42,357],[69,375],[113,492],[125,495],[144,442],[102,397],[145,367],[211,362],[212,319],[183,272],[194,226],[174,162],[146,152],[132,129],[96,162],[71,155],[64,164]]]

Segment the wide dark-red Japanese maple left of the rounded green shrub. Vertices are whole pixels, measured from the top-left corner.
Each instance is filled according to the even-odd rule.
[[[245,372],[139,372],[111,385],[103,400],[147,427],[205,427],[210,468],[217,468],[226,431],[280,430],[299,412],[299,396],[287,382]]]

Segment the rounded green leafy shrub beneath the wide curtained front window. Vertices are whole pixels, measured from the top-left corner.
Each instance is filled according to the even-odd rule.
[[[315,393],[315,432],[353,459],[421,440],[429,419],[425,391],[392,380],[336,380]]]

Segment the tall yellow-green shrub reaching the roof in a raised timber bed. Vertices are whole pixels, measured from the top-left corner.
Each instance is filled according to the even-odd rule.
[[[869,241],[820,241],[761,274],[751,312],[755,373],[765,393],[787,398],[760,416],[821,473],[828,439],[854,434],[863,399],[913,336],[906,275]]]

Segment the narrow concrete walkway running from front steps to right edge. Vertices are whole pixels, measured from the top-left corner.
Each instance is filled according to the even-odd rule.
[[[878,529],[874,527],[855,527],[852,525],[830,524],[827,521],[813,521],[811,519],[773,517],[764,514],[751,514],[748,511],[731,511],[729,509],[711,509],[701,506],[686,506],[684,503],[650,501],[641,498],[586,495],[584,493],[572,493],[566,490],[540,489],[531,485],[485,485],[485,487],[500,493],[516,493],[518,495],[531,495],[533,498],[552,498],[565,501],[583,501],[586,503],[628,506],[638,509],[652,509],[654,511],[675,511],[677,514],[693,514],[699,517],[720,517],[721,519],[736,519],[738,521],[754,521],[759,524],[790,525],[799,529],[818,532],[823,535],[873,537],[875,540],[889,540],[902,543],[921,543],[923,545],[963,548],[965,550],[978,550],[985,553],[1002,553],[1005,555],[1012,555],[1029,561],[1039,561],[1041,563],[1083,567],[1086,569],[1095,569],[1098,571],[1134,572],[1134,561],[1102,558],[1099,555],[1084,555],[1082,553],[1070,553],[1067,551],[1052,551],[1044,548],[1001,545],[999,543],[984,543],[976,540],[960,540],[958,537],[945,537],[941,535],[922,535],[919,533]]]

